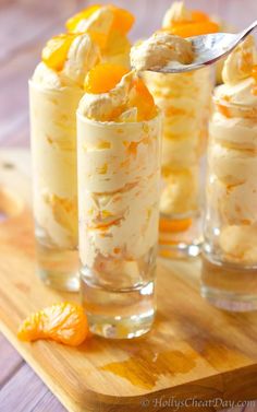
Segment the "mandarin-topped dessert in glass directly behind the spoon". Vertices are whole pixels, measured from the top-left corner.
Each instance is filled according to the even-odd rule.
[[[213,33],[218,25],[199,11],[174,2],[160,33],[181,37]],[[160,254],[196,256],[201,244],[201,176],[212,90],[209,67],[187,73],[144,74],[156,104],[162,109],[162,192]]]

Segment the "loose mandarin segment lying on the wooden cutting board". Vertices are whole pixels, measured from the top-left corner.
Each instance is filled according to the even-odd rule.
[[[19,328],[23,341],[50,339],[70,346],[78,346],[89,334],[82,306],[64,302],[28,316]]]

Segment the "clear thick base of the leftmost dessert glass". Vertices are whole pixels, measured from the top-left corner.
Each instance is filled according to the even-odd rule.
[[[37,244],[37,273],[50,287],[65,292],[79,290],[77,250],[53,249]]]

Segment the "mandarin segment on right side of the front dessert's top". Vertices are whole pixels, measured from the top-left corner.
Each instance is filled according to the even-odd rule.
[[[149,120],[156,116],[154,97],[142,79],[134,80],[134,93],[130,97],[130,106],[137,108],[137,121]]]

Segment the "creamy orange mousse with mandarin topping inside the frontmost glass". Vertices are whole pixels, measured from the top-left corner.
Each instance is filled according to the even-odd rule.
[[[85,92],[77,110],[79,254],[89,268],[115,262],[119,283],[121,273],[139,276],[137,259],[158,240],[160,118],[142,79],[124,67],[95,67]]]

